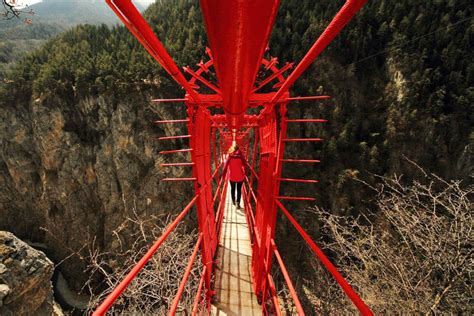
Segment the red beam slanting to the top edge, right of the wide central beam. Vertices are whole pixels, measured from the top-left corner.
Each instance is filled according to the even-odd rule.
[[[364,5],[367,0],[347,0],[339,12],[334,16],[332,21],[326,27],[324,32],[319,36],[310,50],[300,61],[295,70],[288,76],[285,83],[280,87],[278,92],[272,99],[277,102],[283,93],[288,91],[295,81],[303,74],[303,72],[311,65],[311,63],[323,52],[323,50],[331,43],[331,41],[341,32],[347,23],[354,17],[357,11]]]

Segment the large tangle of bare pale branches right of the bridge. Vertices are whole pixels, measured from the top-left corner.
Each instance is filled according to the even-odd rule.
[[[410,185],[381,178],[368,216],[311,210],[322,222],[321,244],[376,314],[473,313],[474,188],[425,177]],[[323,276],[306,284],[317,289],[317,309],[354,312],[324,268],[313,267]]]

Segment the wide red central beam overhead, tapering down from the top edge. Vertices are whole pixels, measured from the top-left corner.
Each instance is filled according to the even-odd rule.
[[[243,123],[279,0],[200,0],[223,108],[230,128]]]

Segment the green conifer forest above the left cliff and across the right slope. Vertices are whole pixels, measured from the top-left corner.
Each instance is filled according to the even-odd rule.
[[[342,4],[282,1],[269,53],[280,63],[298,62]],[[406,173],[403,155],[442,176],[466,176],[458,158],[469,143],[473,121],[474,24],[468,4],[369,1],[297,81],[293,95],[334,96],[325,105],[301,103],[289,111],[294,117],[330,121],[325,128],[290,129],[299,136],[321,136],[323,145],[306,151],[288,148],[289,156],[299,152],[302,158],[322,159],[323,169],[295,172],[321,178],[317,194],[324,206],[349,211],[359,205],[364,192],[354,190],[347,179],[354,174],[367,177],[367,172]],[[179,66],[203,58],[207,40],[197,1],[159,1],[145,17]],[[48,36],[47,29],[43,32]],[[1,61],[9,62],[14,51],[2,43]],[[7,81],[4,95],[17,100],[58,95],[74,102],[147,90],[173,97],[182,93],[121,26],[67,31],[25,57]]]

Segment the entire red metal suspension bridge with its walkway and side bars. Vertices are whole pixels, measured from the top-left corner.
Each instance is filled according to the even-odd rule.
[[[188,139],[189,148],[162,151],[160,154],[171,156],[189,153],[191,161],[165,163],[163,166],[191,167],[192,177],[165,178],[162,181],[189,181],[194,185],[195,196],[94,315],[104,315],[109,310],[191,209],[197,212],[199,237],[187,268],[183,271],[170,315],[177,311],[198,252],[203,269],[193,315],[198,312],[280,315],[279,300],[271,276],[274,263],[281,269],[297,313],[304,315],[274,240],[279,211],[293,224],[360,313],[372,315],[367,305],[284,205],[288,200],[315,199],[280,193],[282,182],[317,182],[313,179],[282,178],[284,164],[319,162],[309,157],[294,159],[284,156],[287,143],[321,141],[320,138],[289,137],[288,124],[326,122],[319,118],[289,119],[288,103],[329,98],[291,97],[289,90],[365,1],[347,0],[296,67],[293,63],[278,67],[277,58],[264,58],[279,7],[278,0],[200,0],[210,48],[206,49],[206,61],[199,62],[196,69],[184,67],[183,73],[131,0],[106,0],[130,32],[185,91],[184,98],[156,99],[153,102],[184,102],[186,105],[187,111],[183,113],[183,118],[155,123],[187,125],[187,135],[163,136],[159,139]],[[263,78],[262,73],[265,74]],[[199,89],[205,92],[199,93]],[[264,93],[262,90],[270,92]],[[219,111],[221,114],[211,114]],[[233,143],[239,145],[250,161],[251,172],[243,186],[243,212],[231,207],[227,194],[227,175],[221,171],[226,149]]]

